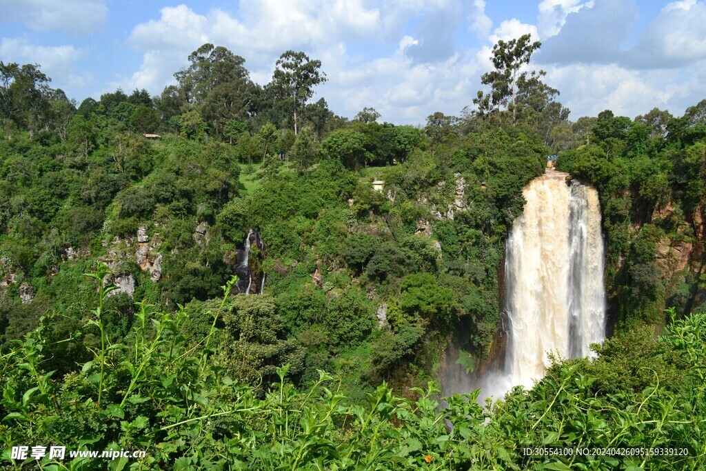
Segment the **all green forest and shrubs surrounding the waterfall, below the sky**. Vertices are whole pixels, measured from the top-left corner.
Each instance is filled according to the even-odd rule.
[[[203,44],[161,95],[80,104],[0,61],[3,467],[704,469],[706,100],[570,121],[539,47],[499,41],[425,126],[337,116],[304,52],[261,86]],[[611,335],[444,398],[503,348],[505,239],[549,155],[599,191]],[[146,455],[11,458],[54,444]]]

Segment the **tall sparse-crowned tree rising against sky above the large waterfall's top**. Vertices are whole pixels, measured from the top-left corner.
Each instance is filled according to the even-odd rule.
[[[531,42],[530,35],[522,35],[508,42],[500,40],[493,46],[491,60],[495,70],[481,76],[481,83],[490,85],[491,91],[488,94],[479,91],[473,100],[481,114],[489,114],[502,107],[510,112],[513,123],[517,120],[517,93],[520,84],[533,79],[538,81],[542,75],[540,71],[527,76],[527,71],[522,71],[522,68],[530,63],[532,52],[541,45],[539,41]]]

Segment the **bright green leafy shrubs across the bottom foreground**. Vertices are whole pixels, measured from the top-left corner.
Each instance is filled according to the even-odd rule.
[[[225,376],[215,366],[216,320],[194,348],[179,334],[188,314],[161,314],[138,305],[124,344],[107,341],[102,327],[106,270],[95,278],[98,306],[89,330],[100,350],[80,372],[54,378],[45,371],[44,323],[2,357],[0,436],[4,463],[11,446],[145,450],[140,460],[76,458],[15,469],[45,470],[682,470],[703,469],[706,455],[706,314],[676,321],[654,342],[609,340],[592,362],[557,363],[532,390],[516,388],[492,407],[478,391],[448,398],[438,389],[393,394],[385,384],[364,404],[349,403],[336,378],[299,391],[277,369],[265,393]],[[638,339],[639,340],[639,339]],[[621,347],[622,346],[622,347]],[[599,371],[621,371],[625,381],[606,390]],[[648,369],[652,383],[642,383]],[[668,380],[668,381],[667,381]],[[524,456],[523,447],[688,448],[689,457],[632,458]]]

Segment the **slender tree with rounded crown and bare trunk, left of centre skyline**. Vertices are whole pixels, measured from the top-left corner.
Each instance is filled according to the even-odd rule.
[[[270,88],[285,107],[292,110],[294,134],[299,132],[299,112],[313,96],[313,88],[326,81],[319,71],[321,61],[311,60],[304,52],[287,51],[277,59]]]

